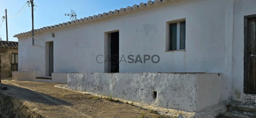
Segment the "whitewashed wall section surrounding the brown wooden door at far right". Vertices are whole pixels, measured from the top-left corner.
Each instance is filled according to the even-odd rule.
[[[244,16],[256,14],[256,0],[235,0],[232,60],[233,99],[256,103],[256,96],[244,94]]]

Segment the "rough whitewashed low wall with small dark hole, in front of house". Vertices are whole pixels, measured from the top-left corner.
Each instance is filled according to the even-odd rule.
[[[71,73],[68,88],[159,107],[198,112],[219,103],[221,75],[190,73]],[[157,92],[154,98],[154,91]]]

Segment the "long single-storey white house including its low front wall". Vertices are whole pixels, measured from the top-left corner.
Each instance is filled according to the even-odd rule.
[[[229,99],[254,103],[255,6],[155,0],[39,28],[34,45],[31,31],[16,34],[13,79],[189,112]]]

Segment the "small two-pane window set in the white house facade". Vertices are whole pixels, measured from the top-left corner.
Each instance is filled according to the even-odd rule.
[[[185,49],[186,21],[169,24],[169,50]]]

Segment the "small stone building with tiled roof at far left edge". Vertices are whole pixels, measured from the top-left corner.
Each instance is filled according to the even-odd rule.
[[[18,70],[18,42],[0,41],[1,77],[11,77]]]

